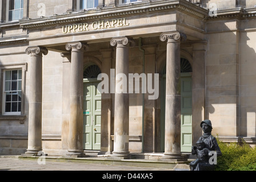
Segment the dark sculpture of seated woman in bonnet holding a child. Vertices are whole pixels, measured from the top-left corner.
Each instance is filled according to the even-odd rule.
[[[211,121],[206,119],[200,124],[203,135],[195,143],[195,146],[192,146],[191,154],[197,155],[197,159],[191,162],[190,170],[191,171],[213,171],[215,169],[215,163],[210,162],[210,159],[214,155],[221,156],[221,150],[218,146],[217,140],[213,135],[211,135]],[[217,160],[217,159],[215,159]]]

